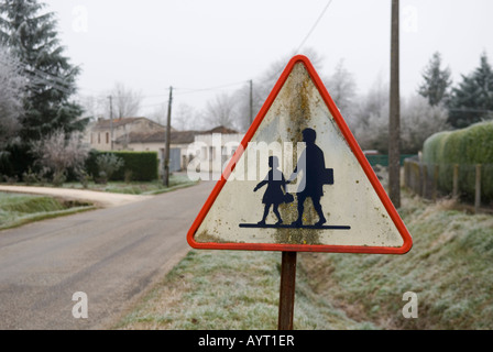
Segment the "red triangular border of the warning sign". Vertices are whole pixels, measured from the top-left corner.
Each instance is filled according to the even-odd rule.
[[[234,169],[234,165],[240,160],[243,151],[246,150],[248,143],[252,140],[258,128],[262,123],[265,114],[271,109],[272,103],[274,102],[275,98],[277,97],[278,92],[281,91],[282,87],[284,86],[286,79],[291,75],[294,66],[298,63],[303,63],[305,65],[311,80],[314,81],[315,86],[317,87],[318,91],[320,92],[320,96],[322,97],[325,103],[327,105],[330,113],[332,114],[336,123],[338,124],[339,130],[341,131],[342,135],[344,136],[347,143],[349,144],[351,151],[353,152],[353,154],[357,157],[358,162],[360,163],[361,167],[363,168],[366,177],[369,178],[371,185],[373,186],[374,190],[376,191],[376,195],[379,196],[382,204],[384,205],[388,216],[391,217],[392,221],[394,222],[398,232],[401,233],[401,237],[404,241],[404,243],[401,248],[366,246],[366,245],[280,244],[280,243],[213,243],[213,242],[202,243],[202,242],[195,241],[195,239],[194,239],[195,233],[197,232],[201,222],[204,221],[204,219],[206,218],[210,208],[212,207],[216,198],[218,197],[222,187],[224,186],[229,175]],[[297,55],[289,61],[289,63],[287,64],[286,68],[283,72],[283,74],[281,75],[280,79],[275,84],[273,90],[271,91],[267,99],[265,100],[262,109],[259,111],[259,114],[256,116],[256,118],[253,121],[252,125],[250,127],[249,131],[245,133],[241,144],[243,147],[239,148],[237,151],[237,153],[234,153],[234,155],[232,156],[230,163],[226,167],[226,170],[222,173],[221,178],[216,184],[215,188],[212,189],[212,193],[206,200],[205,205],[202,206],[200,212],[198,213],[197,218],[195,219],[194,223],[191,224],[191,227],[188,231],[187,241],[191,248],[208,249],[208,250],[405,254],[413,246],[413,239],[412,239],[409,232],[407,231],[403,220],[401,219],[401,216],[398,215],[397,210],[395,209],[394,205],[392,204],[391,199],[388,198],[387,194],[385,193],[385,189],[382,187],[382,184],[377,179],[375,173],[373,172],[373,168],[371,167],[370,163],[368,162],[366,157],[364,156],[363,151],[361,150],[361,147],[359,146],[354,136],[352,135],[351,131],[349,130],[344,119],[342,118],[341,113],[339,112],[339,109],[336,107],[336,103],[333,102],[332,98],[330,98],[330,95],[327,91],[325,85],[322,84],[320,77],[318,76],[318,74],[316,73],[310,61],[306,56]]]

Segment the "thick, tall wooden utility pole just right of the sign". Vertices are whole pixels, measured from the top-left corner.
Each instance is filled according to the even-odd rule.
[[[388,196],[401,207],[399,3],[392,0],[391,109],[388,121]]]

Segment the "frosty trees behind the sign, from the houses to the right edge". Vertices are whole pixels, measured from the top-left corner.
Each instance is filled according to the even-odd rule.
[[[308,50],[307,55],[317,72],[322,72],[322,57]],[[258,113],[276,82],[284,65],[293,55],[273,63],[254,79],[253,111]],[[402,152],[414,154],[421,150],[424,141],[431,134],[461,129],[493,118],[493,72],[483,53],[480,65],[472,73],[461,76],[453,85],[451,70],[442,67],[441,54],[436,52],[421,74],[419,88],[401,101]],[[349,128],[364,150],[386,153],[388,148],[388,84],[377,77],[365,94],[357,94],[353,74],[340,61],[330,75],[321,75],[330,96],[335,100]],[[205,111],[189,105],[180,105],[173,119],[178,129],[197,129],[202,124],[222,124],[239,131],[250,125],[250,87],[245,82],[240,89],[221,92],[210,100]]]

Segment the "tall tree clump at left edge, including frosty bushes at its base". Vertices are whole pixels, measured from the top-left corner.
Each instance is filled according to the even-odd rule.
[[[36,0],[0,1],[3,177],[37,168],[63,178],[88,152],[79,136],[88,119],[81,118],[83,107],[74,99],[80,68],[65,55],[55,14],[45,7]]]

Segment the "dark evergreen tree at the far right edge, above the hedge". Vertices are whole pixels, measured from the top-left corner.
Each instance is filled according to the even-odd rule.
[[[465,128],[492,118],[493,70],[484,53],[480,66],[469,76],[462,75],[459,87],[452,89],[449,123],[454,128]]]

